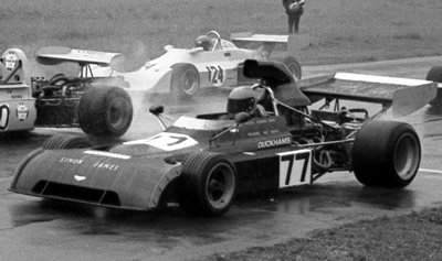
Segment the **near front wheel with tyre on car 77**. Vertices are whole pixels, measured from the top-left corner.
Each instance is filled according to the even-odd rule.
[[[220,216],[232,206],[236,171],[221,154],[197,152],[182,163],[179,203],[193,215]]]

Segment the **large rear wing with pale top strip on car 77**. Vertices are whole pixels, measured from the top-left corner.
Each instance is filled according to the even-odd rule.
[[[429,104],[438,85],[429,80],[337,73],[299,81],[301,90],[312,100],[347,99],[391,107],[393,116],[407,116]]]

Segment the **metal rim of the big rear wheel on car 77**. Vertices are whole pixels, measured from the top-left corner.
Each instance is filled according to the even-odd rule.
[[[398,176],[407,181],[412,177],[419,167],[420,148],[414,135],[402,135],[394,150],[394,168]]]

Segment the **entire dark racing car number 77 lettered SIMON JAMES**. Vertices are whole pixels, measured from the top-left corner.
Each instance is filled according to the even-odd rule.
[[[410,124],[375,120],[379,115],[370,118],[361,108],[309,105],[364,99],[408,113],[396,102],[419,89],[428,93],[423,106],[434,84],[341,74],[299,88],[285,65],[256,61],[245,62],[244,75],[260,84],[233,89],[225,112],[166,126],[164,108],[152,107],[164,131],[147,139],[93,146],[81,137],[53,137],[20,163],[10,191],[137,210],[178,202],[191,214],[219,216],[236,194],[312,184],[330,172],[354,172],[366,186],[390,188],[409,185],[418,173],[421,146]]]

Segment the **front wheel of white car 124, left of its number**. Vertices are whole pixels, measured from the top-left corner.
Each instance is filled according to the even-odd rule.
[[[171,91],[178,97],[188,98],[200,88],[200,74],[191,64],[177,64],[172,68]]]

